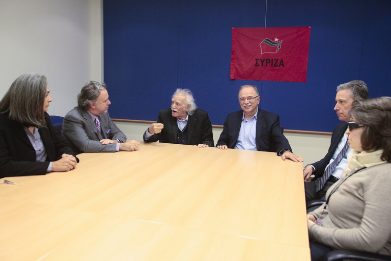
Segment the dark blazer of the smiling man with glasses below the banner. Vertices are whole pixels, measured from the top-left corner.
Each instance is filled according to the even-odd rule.
[[[242,125],[243,111],[228,114],[224,128],[220,134],[217,145],[227,145],[235,148]],[[279,152],[284,149],[292,151],[287,138],[280,126],[280,117],[277,114],[258,109],[256,143],[259,151]]]

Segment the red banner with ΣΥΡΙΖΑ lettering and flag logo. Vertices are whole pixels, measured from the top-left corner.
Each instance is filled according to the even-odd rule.
[[[232,28],[231,79],[305,82],[311,27]]]

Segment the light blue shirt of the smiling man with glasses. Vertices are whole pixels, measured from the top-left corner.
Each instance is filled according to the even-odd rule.
[[[255,115],[247,120],[244,118],[243,113],[242,124],[240,126],[240,132],[235,144],[235,149],[258,150],[257,143],[255,141],[255,135],[257,132],[257,115],[258,109]]]

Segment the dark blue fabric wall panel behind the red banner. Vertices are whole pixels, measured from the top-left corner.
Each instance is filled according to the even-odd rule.
[[[266,10],[266,12],[265,12]],[[233,27],[310,26],[306,83],[230,80]],[[147,0],[103,3],[104,80],[112,118],[156,120],[189,88],[212,124],[240,110],[252,84],[286,129],[331,132],[336,87],[363,80],[391,96],[391,1]]]

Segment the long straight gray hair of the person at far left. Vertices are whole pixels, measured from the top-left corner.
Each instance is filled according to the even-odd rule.
[[[24,126],[46,126],[43,103],[46,97],[46,76],[26,73],[16,78],[0,101],[0,113]]]

